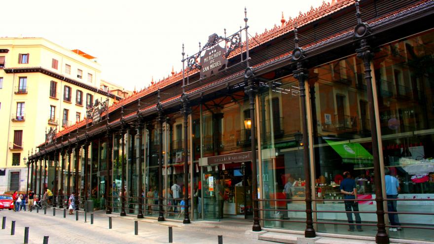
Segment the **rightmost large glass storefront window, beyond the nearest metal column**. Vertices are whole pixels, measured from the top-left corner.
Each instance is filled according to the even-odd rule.
[[[382,46],[373,60],[386,173],[387,198],[434,197],[434,32]],[[389,177],[389,176],[386,176]],[[389,207],[390,208],[390,207]],[[433,212],[433,201],[398,201],[401,212]],[[390,209],[389,209],[390,210]],[[430,215],[389,215],[393,225],[431,225]],[[432,239],[428,231],[390,233],[392,238]]]

